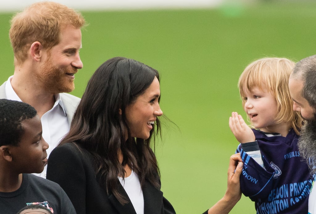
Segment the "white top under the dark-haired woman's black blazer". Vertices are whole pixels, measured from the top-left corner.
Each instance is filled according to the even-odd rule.
[[[136,213],[144,214],[143,190],[140,186],[138,175],[132,170],[131,175],[124,178],[124,181],[123,178],[118,178],[130,198]]]

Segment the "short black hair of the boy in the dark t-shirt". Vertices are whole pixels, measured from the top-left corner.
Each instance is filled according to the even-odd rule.
[[[21,122],[36,116],[36,110],[27,103],[0,99],[0,146],[17,146],[24,132]]]

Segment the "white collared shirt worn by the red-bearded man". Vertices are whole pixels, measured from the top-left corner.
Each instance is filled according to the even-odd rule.
[[[11,85],[10,76],[8,81],[5,84],[5,93],[7,99],[16,100],[22,102],[22,100],[18,97]],[[69,123],[66,116],[66,112],[64,110],[63,103],[60,99],[59,94],[55,95],[55,104],[51,110],[47,111],[42,117],[42,128],[43,128],[43,139],[48,143],[49,148],[46,150],[47,158],[52,150],[58,145],[59,141],[69,132]],[[30,163],[31,164],[31,163]],[[34,175],[38,175],[40,177],[46,178],[46,169],[47,165],[44,167],[42,173]]]

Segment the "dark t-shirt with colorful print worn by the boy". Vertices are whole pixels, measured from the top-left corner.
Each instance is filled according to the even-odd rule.
[[[54,214],[76,214],[70,199],[57,183],[36,175],[23,174],[18,190],[0,192],[0,214],[16,214],[31,204],[41,204]]]

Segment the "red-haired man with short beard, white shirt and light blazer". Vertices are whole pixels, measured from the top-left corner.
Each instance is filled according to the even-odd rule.
[[[11,20],[15,69],[0,86],[0,98],[35,108],[49,144],[47,155],[68,133],[80,101],[65,92],[74,89],[74,74],[83,66],[79,50],[84,25],[80,13],[54,2],[34,3]],[[40,176],[46,177],[46,167]]]

